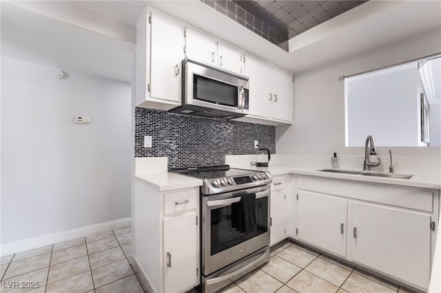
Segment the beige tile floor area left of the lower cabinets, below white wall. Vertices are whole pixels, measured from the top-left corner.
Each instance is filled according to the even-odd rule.
[[[131,227],[11,254],[0,259],[0,292],[143,293],[131,255]],[[31,283],[14,288],[21,282]]]

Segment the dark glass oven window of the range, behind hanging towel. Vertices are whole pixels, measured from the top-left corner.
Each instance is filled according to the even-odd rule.
[[[237,227],[234,221],[241,213],[240,208],[231,205],[211,210],[211,255],[267,232],[268,197],[256,199],[256,231],[247,233]]]

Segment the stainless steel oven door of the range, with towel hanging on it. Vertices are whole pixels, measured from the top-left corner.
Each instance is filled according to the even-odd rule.
[[[242,213],[233,205],[246,193],[256,194],[257,230],[250,233],[240,232],[232,223],[232,219]],[[203,197],[202,270],[205,276],[269,245],[269,194],[269,185],[266,185]]]

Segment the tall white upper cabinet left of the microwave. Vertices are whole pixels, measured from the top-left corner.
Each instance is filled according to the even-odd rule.
[[[169,110],[181,105],[184,26],[158,12],[136,25],[136,106]]]

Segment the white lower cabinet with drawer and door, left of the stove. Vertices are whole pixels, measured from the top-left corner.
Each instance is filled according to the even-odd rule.
[[[199,187],[158,191],[134,182],[133,267],[149,292],[187,292],[200,281]]]

